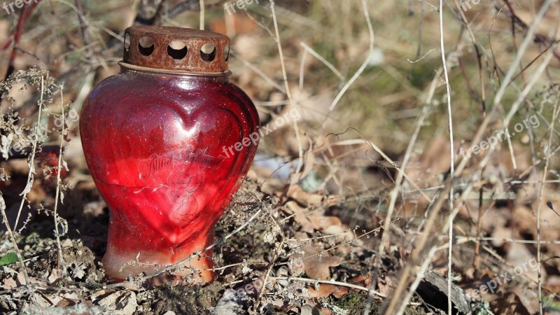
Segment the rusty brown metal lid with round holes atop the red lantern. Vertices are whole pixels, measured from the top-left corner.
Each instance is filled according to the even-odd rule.
[[[188,73],[228,73],[230,38],[212,31],[135,25],[125,31],[124,66]]]

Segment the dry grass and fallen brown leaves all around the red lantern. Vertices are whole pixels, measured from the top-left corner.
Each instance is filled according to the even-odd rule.
[[[52,127],[61,104],[73,100],[70,109],[80,110],[91,87],[118,71],[123,30],[137,14],[155,13],[149,2],[84,2],[80,12],[75,5],[80,1],[41,1],[34,8],[20,33],[13,66],[38,66],[54,81],[44,83],[46,72],[27,70],[20,76],[33,77],[35,89],[19,91],[20,85],[14,85],[2,90],[3,151],[18,143],[18,133],[33,133],[37,121]],[[435,301],[447,300],[443,291],[449,284],[432,296],[421,292],[430,284],[422,281],[423,270],[447,278],[449,248],[451,274],[461,276],[453,286],[476,297],[471,306],[489,302],[486,309],[494,314],[558,311],[560,202],[555,189],[560,147],[558,124],[550,125],[558,119],[560,93],[557,1],[542,19],[536,17],[546,1],[521,0],[510,6],[480,1],[463,14],[458,1],[444,1],[450,104],[439,52],[438,3],[278,1],[272,15],[269,2],[260,1],[248,6],[248,14],[228,15],[211,7],[216,2],[205,0],[210,6],[206,28],[232,36],[231,80],[257,104],[261,123],[291,108],[301,119],[262,139],[263,155],[248,174],[250,181],[218,223],[218,237],[231,236],[214,248],[216,267],[221,267],[215,283],[193,290],[107,286],[99,273],[107,209],[87,175],[74,122],[66,126],[64,137],[71,141],[62,140],[68,172],[55,172],[61,183],[52,174],[64,163],[48,155],[37,153],[34,159],[27,154],[0,165],[9,176],[2,177],[1,192],[6,229],[11,230],[0,256],[10,258],[8,253],[15,251],[21,257],[19,263],[1,267],[2,311],[89,307],[93,314],[105,307],[140,314],[153,307],[181,314],[209,311],[208,305],[216,307],[233,294],[236,298],[226,306],[252,314],[309,309],[360,314],[368,306],[371,314],[447,312],[447,304],[436,306]],[[169,16],[179,1],[165,3],[158,22],[198,27],[197,11]],[[363,3],[374,32],[372,50]],[[10,34],[18,34],[22,17],[0,21],[0,43],[7,43],[0,50],[0,74],[9,69]],[[535,34],[523,48],[535,20]],[[513,63],[518,53],[519,62]],[[505,80],[508,72],[512,82]],[[41,78],[43,85],[37,81]],[[348,90],[333,103],[345,85]],[[52,90],[41,93],[41,86]],[[45,115],[37,120],[41,95],[52,103],[41,107]],[[515,129],[531,117],[538,125]],[[496,148],[469,159],[461,154],[461,148],[481,144],[505,127],[516,132],[510,141],[499,141]],[[56,130],[37,146],[49,152],[60,139]],[[291,174],[278,176],[282,172],[276,168],[282,164],[274,158],[289,162]],[[36,167],[29,189],[25,159]],[[59,187],[69,190],[62,190],[64,204],[57,206]],[[451,190],[454,202],[449,204]],[[21,199],[22,191],[27,200]],[[21,213],[27,206],[29,220]],[[60,217],[53,219],[55,212]],[[456,216],[451,242],[450,214]],[[14,229],[16,216],[20,223]],[[27,225],[20,230],[22,221]],[[66,225],[67,234],[52,232]],[[92,254],[80,258],[76,253],[82,248]],[[500,293],[473,293],[533,258],[540,267],[503,281]],[[76,269],[80,264],[86,267]],[[184,295],[190,297],[181,305],[177,301]],[[399,310],[401,305],[407,309]]]

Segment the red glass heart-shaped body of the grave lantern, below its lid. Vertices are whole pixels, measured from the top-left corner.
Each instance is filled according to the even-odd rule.
[[[256,132],[255,106],[227,76],[123,67],[99,83],[83,106],[80,137],[110,210],[108,278],[150,274],[151,265],[212,244],[255,155],[258,138],[244,139]],[[211,252],[186,267],[213,267]],[[213,274],[199,275],[204,282]]]

